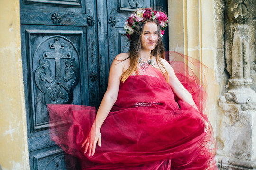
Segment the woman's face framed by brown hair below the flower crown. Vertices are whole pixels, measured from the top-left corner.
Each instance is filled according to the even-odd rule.
[[[148,22],[143,28],[141,35],[141,48],[153,50],[158,41],[158,26],[154,22]]]

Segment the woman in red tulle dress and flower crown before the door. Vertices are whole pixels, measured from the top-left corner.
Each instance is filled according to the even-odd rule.
[[[186,85],[196,87],[193,99],[163,59],[167,22],[150,8],[125,22],[130,50],[114,59],[97,114],[88,106],[49,105],[51,139],[78,157],[81,169],[217,169],[214,139],[196,98],[201,86]],[[67,126],[57,126],[59,119]]]

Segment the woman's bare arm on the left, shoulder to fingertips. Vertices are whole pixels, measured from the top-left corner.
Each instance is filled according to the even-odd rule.
[[[127,63],[127,60],[121,62],[125,58],[125,56],[127,57],[127,54],[125,53],[117,55],[110,67],[107,91],[101,101],[100,107],[96,114],[96,118],[91,127],[91,131],[82,144],[82,147],[86,144],[84,148],[84,153],[86,153],[89,149],[88,156],[93,156],[93,154],[95,153],[97,142],[98,145],[101,146],[100,128],[117,100],[121,75],[123,73],[123,68]]]

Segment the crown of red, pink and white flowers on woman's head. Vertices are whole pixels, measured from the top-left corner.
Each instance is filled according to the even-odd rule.
[[[124,29],[126,31],[126,36],[128,38],[131,37],[131,34],[134,32],[135,26],[145,20],[145,19],[152,19],[153,21],[156,20],[160,27],[161,27],[161,37],[164,35],[165,28],[168,23],[168,17],[163,12],[153,11],[151,8],[145,8],[137,10],[135,13],[131,14],[129,19],[126,20]]]

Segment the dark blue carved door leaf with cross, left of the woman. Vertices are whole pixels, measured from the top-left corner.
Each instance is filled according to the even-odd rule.
[[[99,103],[97,17],[91,0],[20,0],[31,170],[64,170],[46,104]]]

